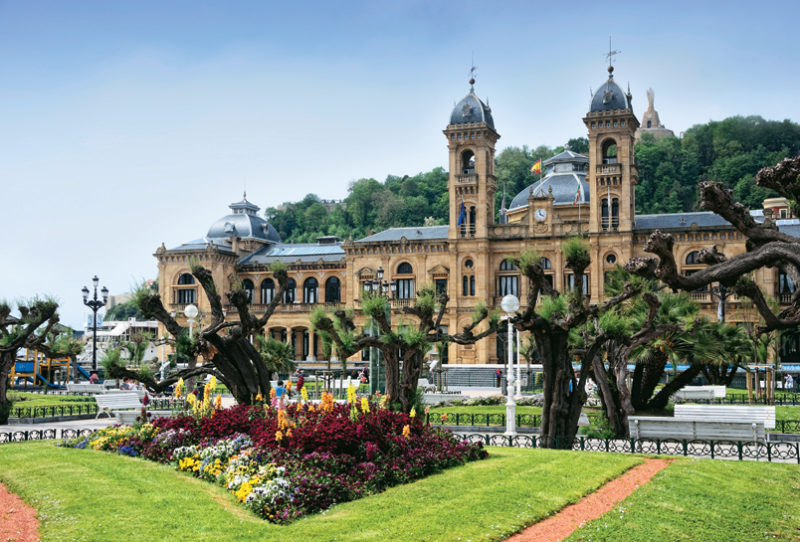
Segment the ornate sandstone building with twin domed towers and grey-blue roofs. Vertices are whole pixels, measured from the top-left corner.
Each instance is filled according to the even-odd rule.
[[[643,245],[655,229],[675,236],[677,258],[686,274],[702,267],[697,261],[701,248],[715,244],[728,256],[743,252],[742,235],[713,213],[636,215],[634,187],[639,174],[634,143],[640,123],[633,113],[630,92],[616,84],[612,67],[608,71],[608,79],[593,95],[583,118],[589,137],[588,157],[566,150],[545,161],[542,178],[513,198],[502,221],[495,220],[494,208],[494,157],[500,135],[491,109],[475,94],[474,80],[470,80],[469,93],[455,106],[444,129],[450,171],[447,225],[392,228],[344,242],[324,237],[313,244],[286,244],[258,216],[259,208],[244,198],[231,204],[231,213],[212,224],[205,237],[172,249],[162,245],[156,251],[162,299],[178,315],[189,303],[199,307],[201,318],[209,310],[189,272],[189,261],[194,258],[211,269],[223,294],[224,288],[243,284],[258,314],[277,287],[269,265],[285,262],[290,290],[265,333],[290,341],[296,359],[309,360],[322,356],[320,341],[310,325],[314,308],[347,305],[358,315],[364,283],[379,277],[394,292],[394,325],[403,325],[402,307],[412,302],[417,287],[433,283],[450,296],[443,325],[456,330],[470,320],[479,302],[498,307],[500,299],[511,293],[525,303],[528,286],[506,258],[527,247],[538,249],[552,283],[564,291],[572,287],[574,277],[564,267],[561,245],[570,236],[586,236],[592,264],[584,284],[593,300],[606,295],[605,273],[617,263],[642,255]],[[651,110],[652,94],[650,97]],[[658,125],[658,116],[654,110],[652,113]],[[652,125],[652,119],[650,122]],[[773,208],[779,209],[779,202],[771,203],[770,219]],[[764,219],[764,211],[752,214]],[[778,227],[800,236],[797,219],[781,218]],[[788,277],[774,270],[759,270],[756,279],[768,294],[783,300],[788,300],[786,294],[794,288]],[[711,294],[695,292],[693,297],[709,316],[716,315],[717,300]],[[735,297],[728,297],[727,307],[728,321],[745,317]],[[235,312],[229,311],[228,318],[234,317]],[[472,346],[451,344],[446,361],[497,363],[504,359],[503,340],[490,337]],[[797,347],[792,348],[787,355],[796,357]]]

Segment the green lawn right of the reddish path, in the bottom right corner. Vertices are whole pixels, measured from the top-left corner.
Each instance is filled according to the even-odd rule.
[[[568,540],[800,540],[800,467],[681,459]]]

